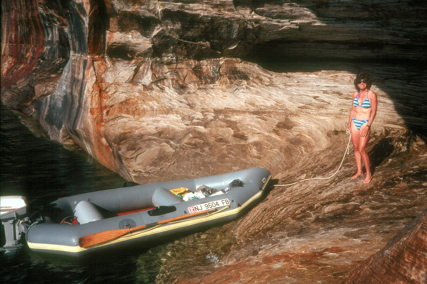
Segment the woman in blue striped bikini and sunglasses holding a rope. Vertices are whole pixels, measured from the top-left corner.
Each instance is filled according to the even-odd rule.
[[[377,94],[370,90],[371,76],[367,72],[362,72],[354,79],[354,86],[357,91],[353,93],[353,100],[348,120],[347,129],[351,131],[351,141],[354,146],[354,158],[356,159],[357,173],[352,178],[363,175],[362,161],[365,164],[366,178],[363,181],[367,184],[372,179],[371,164],[366,153],[366,144],[371,133],[371,124],[377,114]]]

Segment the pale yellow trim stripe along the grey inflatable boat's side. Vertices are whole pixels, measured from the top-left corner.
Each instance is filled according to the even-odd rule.
[[[213,214],[209,214],[209,215],[205,215],[205,216],[201,216],[201,217],[196,217],[193,219],[184,220],[184,221],[177,222],[177,223],[163,224],[162,226],[159,226],[159,227],[154,227],[152,229],[142,230],[140,232],[134,232],[130,235],[124,235],[124,236],[117,238],[117,239],[114,239],[112,241],[97,244],[97,245],[94,245],[94,246],[91,246],[88,248],[79,247],[79,245],[77,245],[77,246],[65,246],[65,245],[60,245],[60,244],[40,244],[40,243],[30,243],[30,242],[28,242],[28,246],[34,250],[59,250],[59,251],[64,251],[64,252],[77,253],[77,252],[82,252],[84,250],[90,250],[94,247],[102,247],[102,246],[106,246],[109,244],[115,244],[115,243],[119,243],[122,241],[131,240],[134,238],[140,238],[140,237],[145,236],[145,235],[157,234],[160,232],[165,232],[165,231],[169,231],[169,230],[173,230],[173,229],[179,229],[181,227],[187,227],[190,225],[215,220],[215,219],[222,218],[222,217],[225,217],[228,215],[236,214],[236,213],[242,211],[243,209],[245,209],[245,207],[249,206],[253,201],[255,201],[257,198],[259,198],[263,194],[263,191],[266,188],[267,184],[269,183],[270,179],[271,179],[271,175],[269,175],[269,177],[267,178],[267,180],[264,183],[260,192],[258,192],[257,194],[255,194],[254,196],[249,198],[248,201],[246,201],[240,207],[237,207],[235,209],[225,210],[222,212],[217,212],[217,213],[213,213]]]

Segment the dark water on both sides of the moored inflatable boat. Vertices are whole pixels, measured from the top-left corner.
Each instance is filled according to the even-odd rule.
[[[27,126],[23,125],[26,123]],[[29,130],[32,129],[32,131]],[[33,134],[33,132],[35,134]],[[80,149],[50,141],[32,120],[1,106],[1,195],[33,204],[120,187],[125,180]],[[1,283],[154,283],[161,248],[132,248],[76,259],[22,248],[0,252]]]

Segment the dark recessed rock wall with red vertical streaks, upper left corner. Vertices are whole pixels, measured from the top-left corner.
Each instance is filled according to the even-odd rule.
[[[1,99],[29,115],[56,89],[69,57],[64,11],[52,2],[2,2]]]

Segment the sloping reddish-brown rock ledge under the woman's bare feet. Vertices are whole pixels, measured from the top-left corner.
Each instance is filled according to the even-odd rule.
[[[354,283],[418,283],[426,271],[425,218],[418,218],[408,235],[399,232],[426,208],[427,148],[418,138],[386,129],[376,132],[369,151],[377,164],[370,184],[351,180],[355,167],[350,156],[332,179],[276,186],[240,220],[167,247],[159,283],[330,284],[344,277]],[[304,166],[276,174],[278,183],[330,176],[334,170],[328,163],[336,169],[341,158],[336,148],[345,148],[333,145],[304,156]],[[398,234],[393,246],[387,245]],[[223,237],[212,240],[212,235]],[[199,251],[190,255],[186,247]],[[217,264],[204,259],[211,251],[219,257]],[[388,277],[376,281],[374,274]]]

